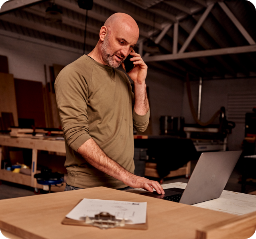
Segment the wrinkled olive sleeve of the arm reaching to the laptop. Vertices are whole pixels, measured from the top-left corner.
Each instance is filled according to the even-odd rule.
[[[89,136],[88,81],[76,69],[65,67],[55,81],[57,107],[69,147],[77,149]]]

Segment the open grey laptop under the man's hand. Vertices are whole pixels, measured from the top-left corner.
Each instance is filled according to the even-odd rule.
[[[144,192],[140,195],[187,205],[219,198],[242,151],[202,153],[185,189],[167,188],[165,194]]]

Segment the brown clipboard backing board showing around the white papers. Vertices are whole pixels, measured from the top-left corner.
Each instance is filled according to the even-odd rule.
[[[82,199],[78,202],[80,203]],[[77,204],[78,204],[77,203]],[[76,205],[75,205],[76,206]],[[74,220],[65,217],[62,221],[61,224],[63,225],[73,225],[73,226],[85,226],[85,227],[93,227],[93,225],[89,225],[85,223],[85,220]],[[137,229],[137,230],[147,230],[148,229],[148,216],[146,216],[146,223],[144,224],[125,224],[122,227],[115,227],[117,229]]]

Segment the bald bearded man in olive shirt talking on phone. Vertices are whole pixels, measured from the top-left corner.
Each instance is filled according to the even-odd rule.
[[[158,182],[134,175],[133,128],[146,130],[149,119],[147,66],[132,52],[138,37],[132,17],[113,14],[100,29],[93,51],[65,67],[55,81],[65,135],[65,190],[130,186],[164,194]],[[135,99],[128,77],[114,69],[120,64],[124,67],[129,54],[135,65],[128,73],[134,81]]]

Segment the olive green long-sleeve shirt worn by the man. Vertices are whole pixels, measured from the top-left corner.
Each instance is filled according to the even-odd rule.
[[[124,188],[122,181],[89,164],[77,149],[89,138],[134,173],[133,129],[143,132],[149,111],[133,110],[134,94],[128,77],[83,55],[67,65],[55,81],[59,115],[65,137],[67,184],[79,188]]]

